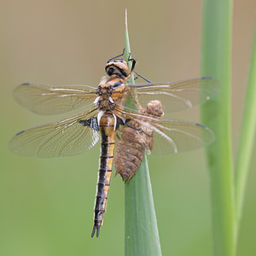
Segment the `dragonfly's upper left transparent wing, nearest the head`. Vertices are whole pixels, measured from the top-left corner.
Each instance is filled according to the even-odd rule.
[[[21,106],[34,113],[56,114],[92,104],[96,89],[87,85],[25,83],[15,88],[14,96]]]

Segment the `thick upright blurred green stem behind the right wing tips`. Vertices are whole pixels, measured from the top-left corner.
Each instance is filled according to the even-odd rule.
[[[205,0],[202,21],[201,75],[222,84],[218,96],[201,107],[201,118],[216,135],[207,147],[212,202],[213,254],[236,253],[234,177],[230,143],[231,0]]]

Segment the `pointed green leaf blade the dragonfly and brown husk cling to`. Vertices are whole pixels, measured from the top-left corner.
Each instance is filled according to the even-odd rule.
[[[127,61],[131,49],[127,20],[125,24],[125,61]],[[134,83],[133,78],[128,82]],[[134,102],[130,101],[125,105],[129,107],[131,104]],[[135,177],[132,177],[129,183],[125,183],[125,255],[161,255],[146,156]]]

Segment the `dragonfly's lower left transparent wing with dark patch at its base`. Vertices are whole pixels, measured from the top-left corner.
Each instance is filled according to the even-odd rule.
[[[55,157],[84,153],[99,140],[98,133],[84,122],[96,114],[79,113],[60,122],[20,131],[9,141],[10,151],[37,157]]]

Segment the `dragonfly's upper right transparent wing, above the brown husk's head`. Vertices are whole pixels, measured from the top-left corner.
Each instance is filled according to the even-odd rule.
[[[212,78],[188,79],[163,84],[128,84],[143,108],[152,100],[160,100],[165,113],[173,113],[205,102],[220,89]],[[127,90],[126,95],[130,95]],[[128,108],[127,111],[129,111]],[[131,109],[133,109],[131,107]]]

